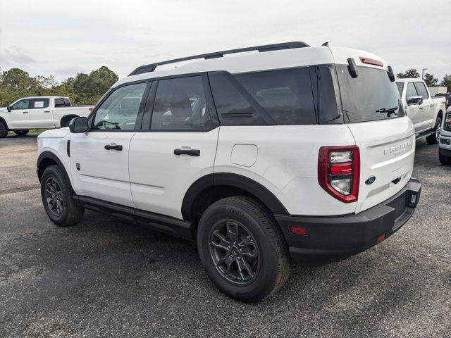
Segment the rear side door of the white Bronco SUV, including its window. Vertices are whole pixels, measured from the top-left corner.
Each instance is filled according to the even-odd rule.
[[[187,189],[214,168],[219,127],[208,79],[156,81],[146,107],[148,130],[130,144],[133,201],[138,209],[182,218]]]

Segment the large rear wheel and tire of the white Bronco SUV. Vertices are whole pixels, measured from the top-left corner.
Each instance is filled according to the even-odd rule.
[[[211,204],[199,222],[197,247],[210,280],[238,301],[271,296],[290,274],[288,247],[276,220],[248,196]]]

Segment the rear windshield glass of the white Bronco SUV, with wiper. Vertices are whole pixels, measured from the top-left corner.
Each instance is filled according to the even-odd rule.
[[[346,65],[337,65],[345,123],[385,120],[404,116],[400,93],[386,70],[357,67],[352,78]]]

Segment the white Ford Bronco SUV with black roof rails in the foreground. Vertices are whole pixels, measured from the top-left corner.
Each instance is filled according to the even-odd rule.
[[[222,292],[259,301],[290,261],[347,258],[412,216],[394,81],[378,56],[302,42],[144,65],[39,135],[44,208],[60,226],[86,208],[195,241]]]

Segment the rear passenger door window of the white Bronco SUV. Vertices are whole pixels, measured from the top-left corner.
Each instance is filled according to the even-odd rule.
[[[159,81],[151,130],[203,132],[212,125],[202,76]]]

